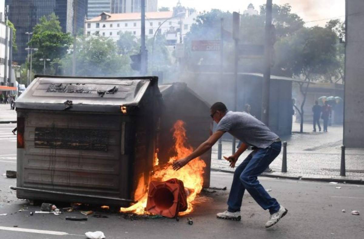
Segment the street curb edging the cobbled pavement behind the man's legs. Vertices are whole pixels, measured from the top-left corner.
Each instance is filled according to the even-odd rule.
[[[226,172],[233,174],[234,171],[223,170],[218,168],[211,168],[211,171],[215,172]],[[291,180],[305,180],[305,181],[316,181],[316,182],[336,182],[336,183],[350,183],[350,184],[364,184],[363,180],[360,179],[339,179],[339,178],[306,178],[302,176],[286,176],[286,175],[276,175],[276,174],[267,174],[263,173],[260,176],[267,178],[282,178],[282,179],[291,179]]]

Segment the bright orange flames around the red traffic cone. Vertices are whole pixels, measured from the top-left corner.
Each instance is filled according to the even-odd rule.
[[[185,167],[181,168],[178,171],[174,171],[172,164],[177,159],[185,158],[193,152],[193,148],[190,146],[186,146],[186,130],[184,128],[184,122],[182,120],[177,120],[174,124],[174,133],[173,139],[175,140],[175,150],[177,151],[177,156],[169,159],[169,162],[165,167],[160,170],[154,172],[152,176],[152,180],[160,180],[165,181],[171,178],[177,178],[182,180],[185,188],[190,189],[190,194],[187,197],[188,207],[185,212],[181,212],[180,215],[185,215],[193,211],[192,202],[195,199],[196,195],[201,192],[202,184],[203,184],[203,168],[206,167],[205,162],[202,159],[197,158],[189,162]],[[155,157],[155,162],[158,158]],[[158,164],[154,164],[158,165]],[[133,212],[135,214],[149,214],[149,212],[145,211],[144,208],[147,205],[147,194],[143,196],[138,203],[134,204],[128,208],[120,208],[120,212]]]

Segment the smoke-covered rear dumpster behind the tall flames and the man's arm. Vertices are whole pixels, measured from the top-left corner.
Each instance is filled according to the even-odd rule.
[[[185,122],[187,143],[197,148],[212,133],[213,121],[210,105],[202,100],[186,83],[159,85],[163,96],[163,111],[159,129],[158,159],[161,164],[177,155],[174,147],[173,125],[177,120]],[[206,164],[203,187],[210,187],[211,150],[200,157]]]

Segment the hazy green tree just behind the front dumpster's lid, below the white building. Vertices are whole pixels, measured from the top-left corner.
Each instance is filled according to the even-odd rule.
[[[126,76],[131,72],[129,57],[106,37],[81,37],[76,44],[76,76]],[[72,74],[72,54],[60,61],[65,75]]]

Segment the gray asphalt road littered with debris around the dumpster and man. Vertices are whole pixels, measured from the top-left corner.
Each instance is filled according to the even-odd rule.
[[[288,214],[266,229],[269,218],[249,194],[243,199],[240,222],[217,219],[215,214],[226,210],[227,191],[204,193],[200,203],[188,217],[174,219],[124,219],[106,213],[108,218],[88,216],[86,222],[66,221],[65,216],[81,216],[78,211],[62,215],[33,215],[39,206],[29,206],[16,199],[9,186],[16,179],[7,179],[6,170],[15,170],[16,142],[11,135],[13,125],[0,125],[0,238],[86,238],[87,231],[102,231],[106,238],[363,238],[364,187],[353,184],[329,184],[300,180],[260,178],[261,183],[277,198]],[[9,134],[10,133],[10,134]],[[211,186],[230,187],[232,175],[211,173]],[[336,189],[335,187],[341,187]],[[9,201],[9,203],[8,203]],[[29,210],[19,212],[20,209]],[[345,209],[346,212],[341,210]],[[362,214],[352,215],[357,210]],[[17,226],[17,227],[14,227]],[[15,231],[14,231],[15,230]]]

